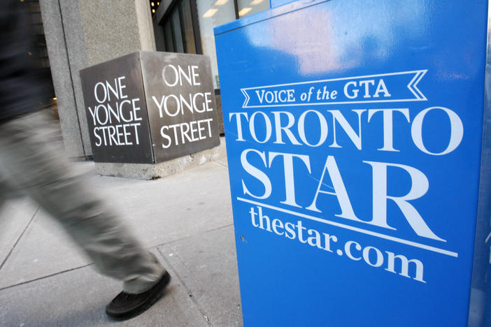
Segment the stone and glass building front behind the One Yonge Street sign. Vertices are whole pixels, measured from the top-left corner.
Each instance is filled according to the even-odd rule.
[[[90,159],[80,70],[138,50],[211,59],[221,123],[213,28],[270,8],[269,0],[39,0],[66,152]]]

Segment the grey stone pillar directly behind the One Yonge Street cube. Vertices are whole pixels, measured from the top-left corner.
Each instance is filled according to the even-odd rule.
[[[92,148],[79,71],[138,50],[155,50],[150,4],[145,0],[41,0],[41,15],[69,157]]]

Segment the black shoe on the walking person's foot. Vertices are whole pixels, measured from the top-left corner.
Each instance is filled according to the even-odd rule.
[[[139,294],[129,294],[122,291],[106,306],[106,314],[117,319],[129,319],[141,314],[159,298],[162,298],[165,286],[169,284],[170,280],[171,275],[165,272],[157,284],[148,291]]]

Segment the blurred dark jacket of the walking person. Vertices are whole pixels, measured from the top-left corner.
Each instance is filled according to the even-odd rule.
[[[0,121],[40,107],[46,85],[33,49],[24,3],[0,0]]]

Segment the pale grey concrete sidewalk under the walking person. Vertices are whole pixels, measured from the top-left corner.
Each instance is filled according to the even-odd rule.
[[[241,326],[221,143],[220,159],[160,180],[100,177],[94,163],[75,163],[173,277],[162,300],[127,321],[104,312],[120,282],[96,273],[28,199],[8,202],[0,212],[0,326]]]

